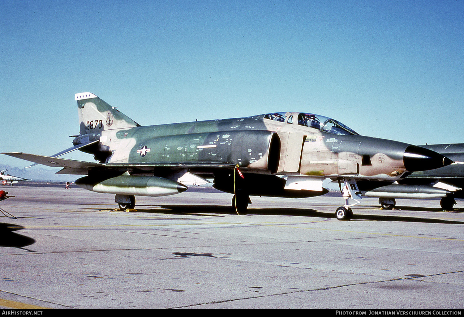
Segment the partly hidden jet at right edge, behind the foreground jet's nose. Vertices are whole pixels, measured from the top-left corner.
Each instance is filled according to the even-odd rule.
[[[415,171],[406,178],[393,184],[379,186],[379,182],[359,182],[363,196],[379,197],[384,209],[396,205],[395,198],[431,199],[441,198],[440,206],[444,210],[453,209],[455,198],[464,198],[464,143],[435,144],[421,146],[442,153],[455,163],[431,171]]]

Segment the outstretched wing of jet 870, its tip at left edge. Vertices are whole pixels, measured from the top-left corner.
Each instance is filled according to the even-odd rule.
[[[212,170],[212,169],[233,169],[235,165],[224,162],[189,162],[189,163],[92,163],[77,161],[74,159],[60,159],[52,156],[27,154],[23,152],[2,153],[14,158],[24,159],[33,163],[62,167],[56,174],[73,174],[87,175],[90,170],[113,170],[127,171],[132,170],[138,173],[151,172],[156,169],[194,169],[194,170]]]

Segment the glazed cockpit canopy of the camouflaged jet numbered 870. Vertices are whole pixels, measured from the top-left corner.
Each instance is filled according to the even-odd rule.
[[[287,124],[294,124],[294,116],[296,116],[296,122],[299,126],[310,127],[332,134],[359,134],[345,126],[343,123],[319,114],[306,114],[303,112],[277,112],[273,114],[264,114],[264,119],[285,122]]]

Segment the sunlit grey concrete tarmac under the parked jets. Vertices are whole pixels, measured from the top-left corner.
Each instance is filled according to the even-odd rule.
[[[187,190],[136,197],[3,186],[0,307],[464,308],[464,204],[376,198],[335,219],[342,197]]]

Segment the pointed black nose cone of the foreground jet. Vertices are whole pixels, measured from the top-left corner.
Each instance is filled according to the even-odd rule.
[[[406,147],[403,163],[407,171],[434,170],[453,163],[446,156],[419,146]]]

